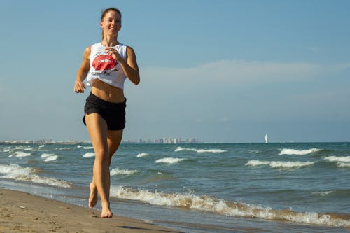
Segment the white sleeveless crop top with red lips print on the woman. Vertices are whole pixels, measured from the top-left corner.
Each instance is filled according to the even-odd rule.
[[[124,89],[124,82],[127,76],[120,66],[119,62],[113,57],[106,54],[104,50],[106,47],[102,43],[95,43],[91,45],[90,54],[90,70],[87,73],[86,83],[91,86],[94,79],[98,78],[104,83],[108,83],[114,87]],[[127,46],[119,43],[112,47],[116,49],[123,59],[127,58]]]

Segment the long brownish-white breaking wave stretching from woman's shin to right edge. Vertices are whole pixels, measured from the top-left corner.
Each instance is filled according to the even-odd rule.
[[[241,202],[227,202],[215,197],[197,196],[193,194],[151,192],[112,186],[111,196],[131,199],[158,206],[181,207],[218,213],[224,216],[260,218],[266,220],[285,220],[292,223],[308,223],[314,225],[331,225],[349,227],[350,221],[323,213],[297,213],[289,209],[275,210]]]

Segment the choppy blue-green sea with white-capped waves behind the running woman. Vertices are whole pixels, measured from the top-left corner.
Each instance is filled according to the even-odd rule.
[[[0,143],[0,188],[87,206],[93,162],[90,143]],[[183,232],[349,232],[349,178],[350,143],[122,143],[111,209]]]

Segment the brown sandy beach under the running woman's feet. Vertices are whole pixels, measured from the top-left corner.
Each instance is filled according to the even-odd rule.
[[[0,232],[179,232],[26,192],[0,189]]]

